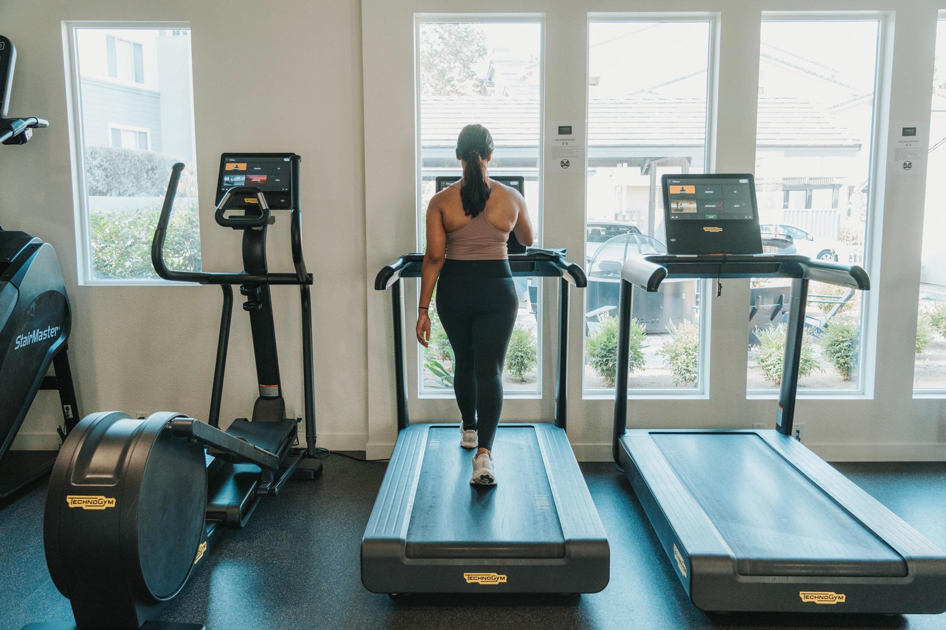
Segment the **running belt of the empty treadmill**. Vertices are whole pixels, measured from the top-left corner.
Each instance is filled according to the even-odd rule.
[[[900,554],[758,434],[650,435],[742,575],[906,575]]]

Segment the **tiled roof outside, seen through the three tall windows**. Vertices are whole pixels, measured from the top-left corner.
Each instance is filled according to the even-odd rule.
[[[640,94],[627,98],[592,97],[588,107],[588,146],[700,146],[706,138],[706,101]],[[497,145],[538,144],[536,98],[431,96],[421,102],[422,144],[452,149],[464,125],[480,123]],[[844,147],[857,149],[836,119],[807,101],[765,97],[759,101],[759,145],[770,147]]]

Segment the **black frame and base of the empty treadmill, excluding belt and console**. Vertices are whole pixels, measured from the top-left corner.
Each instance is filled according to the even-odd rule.
[[[626,430],[629,327],[635,286],[654,292],[668,276],[790,278],[776,430]],[[810,281],[866,291],[859,266],[794,254],[636,256],[622,268],[613,456],[634,487],[681,584],[709,611],[931,613],[946,611],[946,555],[844,475],[792,437],[804,311]],[[737,557],[684,481],[657,447],[654,434],[755,434],[828,499],[859,521],[906,566],[905,576],[742,575]],[[814,571],[812,571],[814,573]]]

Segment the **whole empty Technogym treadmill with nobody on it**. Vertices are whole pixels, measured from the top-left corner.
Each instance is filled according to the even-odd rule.
[[[743,190],[751,212],[700,196],[727,190]],[[622,268],[613,455],[692,603],[721,612],[946,610],[946,556],[792,437],[809,282],[864,291],[867,273],[755,254],[751,176],[664,176],[663,193],[675,251]],[[634,287],[654,292],[667,277],[791,279],[775,430],[626,430]]]

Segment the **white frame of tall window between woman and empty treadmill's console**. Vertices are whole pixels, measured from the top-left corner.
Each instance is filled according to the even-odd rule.
[[[709,51],[707,56],[707,119],[706,119],[706,137],[703,149],[704,171],[707,174],[714,173],[715,154],[716,154],[716,83],[718,80],[718,60],[717,51],[719,50],[720,33],[720,13],[701,12],[701,11],[672,11],[672,12],[589,12],[587,14],[587,42],[591,42],[591,24],[603,22],[708,22],[710,24],[709,33]],[[591,77],[591,55],[587,55],[586,84]],[[585,97],[585,118],[589,119],[590,111],[590,91],[586,85]],[[586,134],[587,137],[587,134]],[[587,148],[586,151],[590,153]],[[586,166],[587,180],[587,166]],[[659,191],[658,191],[659,194]],[[586,195],[587,199],[587,195]],[[583,243],[587,247],[587,209],[585,213],[586,230],[583,233]],[[584,258],[585,252],[582,252]],[[700,291],[700,314],[699,314],[699,368],[694,387],[632,387],[627,388],[628,400],[709,400],[710,399],[710,320],[711,303],[710,299],[710,281],[707,279],[696,279]],[[584,311],[585,296],[582,296],[582,310]],[[582,322],[582,361],[587,352],[587,323]],[[614,389],[588,389],[585,385],[585,373],[582,371],[582,399],[583,400],[614,400]]]

